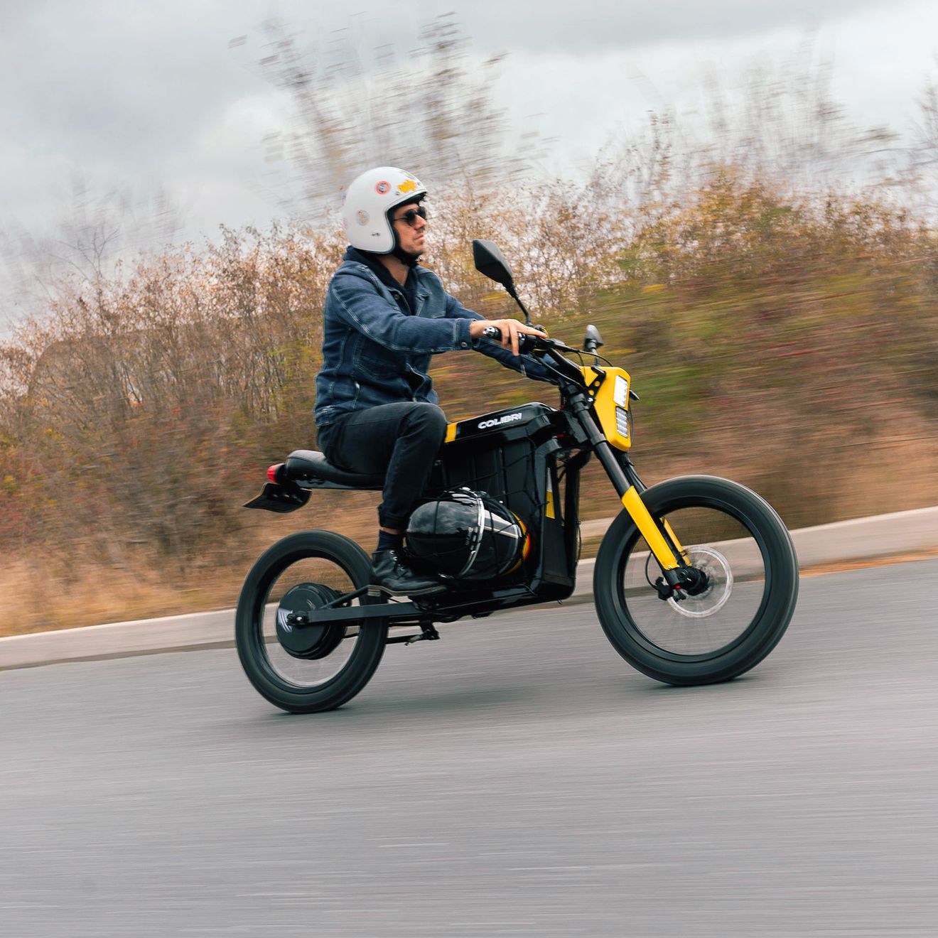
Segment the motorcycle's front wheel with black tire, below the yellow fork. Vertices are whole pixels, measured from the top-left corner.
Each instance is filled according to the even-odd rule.
[[[779,643],[797,601],[798,562],[784,523],[759,495],[724,478],[669,479],[642,500],[653,517],[668,519],[692,563],[709,570],[709,585],[683,602],[658,598],[648,581],[661,570],[623,511],[593,575],[609,641],[665,684],[715,684],[754,668]]]

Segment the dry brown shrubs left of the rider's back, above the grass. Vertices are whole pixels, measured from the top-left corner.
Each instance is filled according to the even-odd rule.
[[[337,258],[295,232],[228,232],[126,283],[74,283],[5,349],[0,523],[13,533],[28,506],[31,538],[115,565],[146,543],[171,574],[214,556],[271,435],[311,443]]]

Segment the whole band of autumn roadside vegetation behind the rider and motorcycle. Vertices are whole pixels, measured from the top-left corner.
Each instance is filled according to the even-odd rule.
[[[281,31],[280,42],[266,67],[301,105],[304,220],[226,231],[118,274],[92,257],[0,346],[0,634],[231,605],[254,556],[301,527],[371,549],[373,493],[317,493],[282,517],[240,507],[269,463],[315,446],[320,310],[343,250],[335,216],[317,207],[332,186],[323,173],[346,178],[382,159],[351,159],[356,140],[342,134],[358,131],[325,119],[329,84],[310,85],[294,40]],[[779,98],[774,112],[746,112],[745,134],[706,144],[657,115],[584,180],[535,182],[518,161],[490,159],[504,117],[491,84],[460,70],[465,53],[452,23],[433,24],[436,156],[398,145],[393,121],[371,149],[427,166],[426,263],[466,305],[512,310],[472,269],[471,239],[488,237],[537,322],[571,343],[598,325],[602,352],[642,398],[634,456],[648,481],[738,478],[792,527],[935,504],[933,96],[914,159],[897,149],[863,185],[845,185],[835,158],[857,165],[885,131],[856,131],[835,108],[795,132]],[[816,83],[798,79],[788,107],[800,113],[809,94]],[[415,102],[399,103],[406,114]],[[465,113],[486,155],[476,166],[459,139]],[[461,185],[446,187],[457,174]],[[450,419],[552,402],[548,386],[483,356],[441,356],[435,379]],[[615,512],[607,490],[587,474],[584,517]]]

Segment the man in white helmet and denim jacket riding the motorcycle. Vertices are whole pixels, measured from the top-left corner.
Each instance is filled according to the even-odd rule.
[[[325,295],[316,377],[315,418],[326,459],[350,472],[385,473],[371,583],[390,595],[440,588],[408,567],[401,550],[446,435],[427,373],[431,356],[473,349],[548,380],[535,359],[518,351],[520,334],[542,332],[467,310],[417,263],[428,226],[426,195],[416,176],[392,166],[357,176],[347,189],[342,224],[349,247]],[[483,336],[492,325],[501,343]]]

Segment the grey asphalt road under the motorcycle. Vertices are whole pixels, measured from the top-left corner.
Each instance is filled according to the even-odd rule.
[[[231,650],[0,673],[0,933],[934,935],[936,585],[805,579],[709,688],[591,605],[392,645],[310,717]]]

